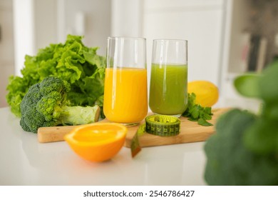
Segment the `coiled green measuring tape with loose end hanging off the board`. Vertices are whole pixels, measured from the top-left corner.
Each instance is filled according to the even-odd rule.
[[[145,124],[139,126],[131,141],[131,154],[134,157],[141,150],[139,136],[145,134],[156,136],[176,136],[180,133],[180,119],[175,116],[152,115],[145,118]]]

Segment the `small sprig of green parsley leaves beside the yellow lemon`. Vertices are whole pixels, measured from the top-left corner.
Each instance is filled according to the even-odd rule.
[[[212,126],[207,120],[212,119],[211,107],[202,107],[195,104],[196,95],[194,93],[187,95],[187,109],[182,116],[188,117],[190,121],[197,121],[202,126]]]

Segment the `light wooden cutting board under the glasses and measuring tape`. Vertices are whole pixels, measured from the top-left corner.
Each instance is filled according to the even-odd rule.
[[[215,124],[217,118],[223,114],[228,109],[214,109],[212,120],[209,122]],[[180,117],[180,134],[177,136],[162,137],[155,136],[152,134],[143,134],[139,137],[140,146],[161,146],[168,144],[182,144],[195,141],[205,141],[210,135],[215,132],[215,126],[200,126],[196,121],[189,121],[187,118]],[[107,119],[103,119],[98,123],[108,122]],[[140,124],[145,123],[141,121]],[[131,140],[135,135],[138,127],[140,126],[128,127],[128,134],[125,138],[124,146],[130,147]],[[52,141],[63,141],[63,136],[68,134],[76,126],[54,126],[54,127],[41,127],[38,129],[38,141],[41,143],[52,142]]]

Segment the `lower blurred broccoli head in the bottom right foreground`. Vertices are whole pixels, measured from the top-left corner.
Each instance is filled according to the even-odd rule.
[[[244,145],[257,116],[232,109],[216,124],[216,134],[205,144],[205,180],[210,185],[277,185],[275,154],[257,154]]]

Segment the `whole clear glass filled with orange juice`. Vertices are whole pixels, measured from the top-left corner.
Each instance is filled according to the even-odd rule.
[[[103,112],[108,121],[133,126],[148,113],[146,42],[108,37]]]

